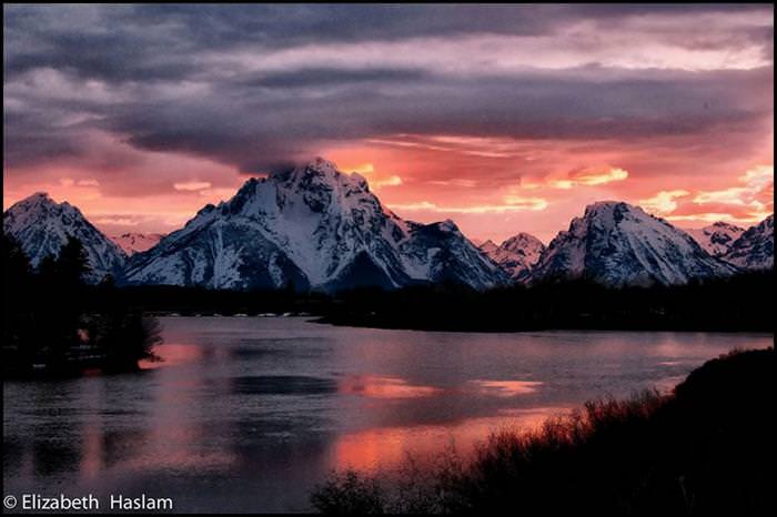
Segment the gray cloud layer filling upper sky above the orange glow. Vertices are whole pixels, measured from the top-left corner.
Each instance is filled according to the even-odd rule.
[[[770,64],[633,70],[599,60],[610,58],[610,44],[620,44],[618,29],[633,23],[625,30],[634,30],[637,40],[687,51],[756,49],[770,61],[769,10],[6,6],[6,165],[79,155],[91,145],[89,131],[108,132],[141,150],[183,152],[255,172],[332,143],[397,133],[589,140],[693,134],[725,124],[760,128],[774,109]],[[718,24],[695,27],[698,16],[717,16]],[[645,29],[640,17],[670,23]],[[685,26],[677,23],[683,17]],[[581,31],[588,31],[585,38],[566,41]],[[424,43],[420,55],[412,45],[369,47],[482,36],[525,37],[527,47],[515,50],[529,58],[536,39],[558,36],[562,50],[589,45],[591,60],[547,70],[505,68],[481,62],[492,58],[491,40],[474,55],[456,55],[454,49],[438,60],[423,54]],[[344,45],[342,59],[339,51],[319,55],[316,45],[334,43]],[[537,59],[561,59],[547,48],[538,50]],[[494,50],[497,58],[500,52],[505,48]]]

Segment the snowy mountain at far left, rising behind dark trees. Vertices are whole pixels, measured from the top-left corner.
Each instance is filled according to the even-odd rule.
[[[83,245],[92,271],[89,281],[107,274],[119,275],[127,260],[124,252],[70,203],[57,203],[38,192],[13,204],[3,213],[2,231],[19,241],[33,266],[48,255],[57,255],[69,236]]]

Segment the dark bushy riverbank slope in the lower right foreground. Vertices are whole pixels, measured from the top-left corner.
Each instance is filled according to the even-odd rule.
[[[670,395],[591,402],[398,480],[341,473],[311,500],[326,514],[773,514],[774,359],[731,353]]]

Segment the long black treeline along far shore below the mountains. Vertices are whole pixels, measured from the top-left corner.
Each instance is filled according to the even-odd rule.
[[[179,286],[127,286],[91,296],[148,313],[250,316],[310,314],[321,322],[434,331],[535,331],[551,328],[773,332],[774,273],[682,286],[609,288],[567,281],[476,292],[461,285],[361,288],[334,295],[230,291]]]

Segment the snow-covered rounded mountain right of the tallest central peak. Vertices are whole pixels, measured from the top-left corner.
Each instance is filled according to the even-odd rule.
[[[694,239],[638,206],[605,201],[586,206],[542,254],[532,282],[585,277],[605,285],[684,284],[736,268]]]

